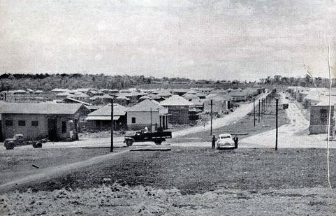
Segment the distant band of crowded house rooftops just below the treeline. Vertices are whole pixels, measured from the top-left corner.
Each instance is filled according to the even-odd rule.
[[[218,92],[219,91],[219,92]],[[168,97],[176,94],[183,96],[189,101],[196,99],[206,99],[211,93],[229,94],[232,101],[248,101],[251,96],[260,94],[262,87],[249,87],[247,89],[226,89],[214,90],[211,88],[200,89],[52,89],[50,92],[41,90],[19,89],[0,92],[0,99],[6,102],[22,103],[22,102],[41,102],[41,101],[63,101],[70,98],[93,105],[110,103],[111,99],[115,99],[116,103],[122,106],[133,106],[134,104],[145,99],[154,99],[161,102]]]

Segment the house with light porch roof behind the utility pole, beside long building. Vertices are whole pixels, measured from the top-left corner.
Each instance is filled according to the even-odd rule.
[[[87,131],[107,131],[111,129],[111,104],[107,104],[87,115]],[[113,129],[126,129],[126,107],[113,104]]]

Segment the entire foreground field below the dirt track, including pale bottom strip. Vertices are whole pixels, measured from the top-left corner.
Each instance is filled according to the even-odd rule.
[[[335,215],[324,154],[210,147],[126,152],[109,163],[17,187],[20,192],[0,195],[0,210],[3,215]],[[332,185],[335,155],[332,150]]]

